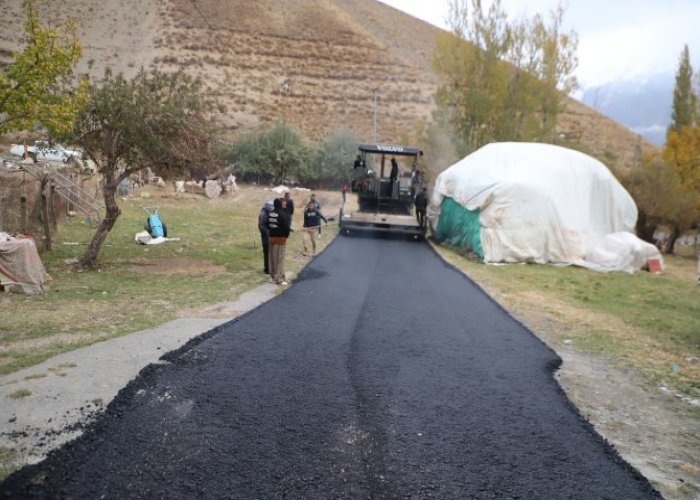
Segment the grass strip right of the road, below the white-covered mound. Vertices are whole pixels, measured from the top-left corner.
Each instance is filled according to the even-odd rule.
[[[695,260],[665,256],[661,275],[573,266],[488,266],[436,246],[450,263],[550,344],[633,366],[657,384],[700,397],[700,287]]]

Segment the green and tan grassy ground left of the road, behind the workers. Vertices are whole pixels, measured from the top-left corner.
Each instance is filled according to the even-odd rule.
[[[155,188],[154,188],[155,190]],[[41,258],[52,277],[43,295],[0,296],[0,374],[33,366],[62,353],[188,316],[216,302],[234,301],[267,282],[257,217],[274,193],[243,186],[233,196],[209,200],[186,193],[151,192],[149,198],[119,199],[122,211],[107,236],[94,271],[67,264],[82,256],[94,230],[69,218]],[[296,205],[304,196],[292,191]],[[324,212],[335,215],[339,192],[318,192]],[[143,231],[143,206],[158,206],[168,236],[162,245],[134,241]],[[294,227],[302,225],[301,210]],[[335,228],[318,240],[327,245]],[[292,233],[286,267],[293,275],[308,259],[302,256],[301,232]],[[21,318],[21,319],[20,319]],[[63,367],[67,368],[67,367]]]

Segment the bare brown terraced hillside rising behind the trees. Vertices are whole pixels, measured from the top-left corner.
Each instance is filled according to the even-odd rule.
[[[226,105],[231,133],[281,119],[313,139],[347,127],[370,141],[376,91],[377,140],[396,142],[434,106],[430,61],[441,31],[374,0],[54,3],[46,20],[80,22],[80,72],[182,68],[204,78]],[[0,15],[20,20],[21,0],[3,1]],[[6,59],[22,26],[6,21],[3,28]],[[580,143],[616,167],[633,166],[640,149],[653,147],[574,100],[559,128],[562,144]]]

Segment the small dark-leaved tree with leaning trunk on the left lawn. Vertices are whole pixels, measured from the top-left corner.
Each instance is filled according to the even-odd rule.
[[[126,80],[107,71],[99,85],[90,86],[89,100],[65,134],[103,178],[106,214],[80,260],[82,267],[94,266],[121,213],[115,192],[122,180],[147,168],[168,178],[213,161],[210,113],[215,110],[221,107],[205,96],[201,80],[181,72],[141,70]]]

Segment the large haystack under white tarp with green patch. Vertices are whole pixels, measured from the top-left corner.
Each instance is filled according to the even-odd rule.
[[[438,240],[486,263],[633,272],[661,262],[633,234],[637,207],[608,168],[549,144],[493,143],[460,160],[438,176],[429,217]]]

